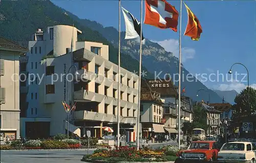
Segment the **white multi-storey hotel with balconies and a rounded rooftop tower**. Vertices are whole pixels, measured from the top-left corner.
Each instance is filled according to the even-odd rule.
[[[45,32],[38,29],[29,41],[30,52],[20,57],[20,74],[30,74],[31,80],[20,82],[21,136],[47,138],[67,133],[64,100],[72,105],[77,102],[69,116],[70,132],[83,136],[91,130],[93,137],[101,137],[102,127],[108,126],[117,133],[118,65],[109,61],[108,45],[77,41],[78,34],[81,31],[75,27],[64,25],[48,27]],[[75,81],[71,75],[65,78],[69,69],[75,74],[72,65],[79,73]],[[138,76],[121,68],[120,87],[123,134],[136,129]]]

